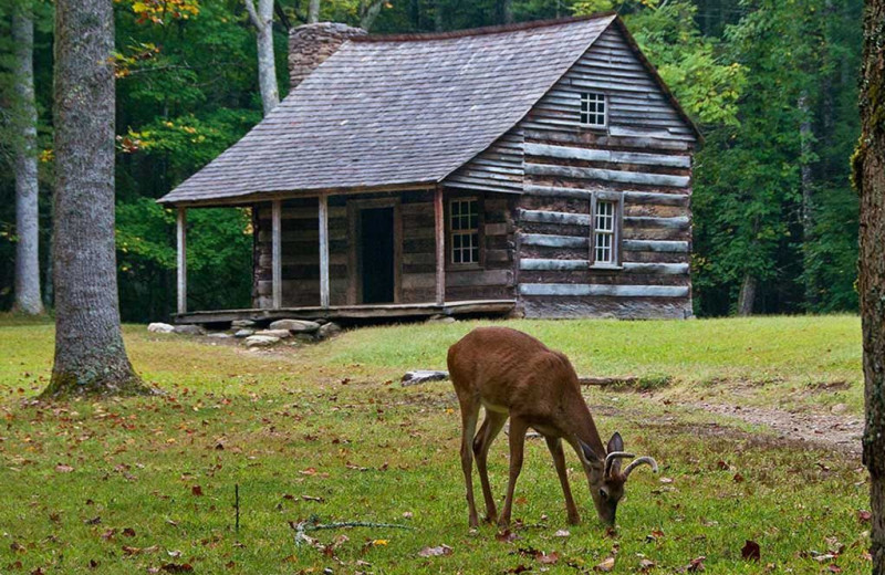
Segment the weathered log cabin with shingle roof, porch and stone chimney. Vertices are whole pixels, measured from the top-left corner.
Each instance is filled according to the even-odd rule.
[[[291,91],[159,201],[179,323],[685,318],[700,134],[613,13],[290,33]],[[249,208],[250,309],[187,309],[186,212]]]

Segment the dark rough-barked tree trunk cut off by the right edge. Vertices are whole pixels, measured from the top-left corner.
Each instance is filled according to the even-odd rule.
[[[866,0],[864,15],[862,133],[853,158],[861,194],[861,316],[863,320],[866,428],[874,575],[885,575],[885,0]]]

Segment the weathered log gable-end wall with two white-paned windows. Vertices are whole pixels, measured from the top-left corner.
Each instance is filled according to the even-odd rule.
[[[579,125],[582,92],[606,94],[605,128]],[[521,127],[517,268],[525,315],[689,316],[695,138],[621,33],[608,29]],[[623,206],[616,270],[590,265],[598,192]]]

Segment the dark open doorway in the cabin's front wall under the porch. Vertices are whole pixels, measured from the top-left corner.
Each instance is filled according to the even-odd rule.
[[[360,212],[363,303],[394,303],[394,209]]]

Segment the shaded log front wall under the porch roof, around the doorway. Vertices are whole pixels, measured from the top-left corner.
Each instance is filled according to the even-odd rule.
[[[480,197],[483,206],[483,266],[448,266],[446,299],[514,299],[514,222],[518,197],[504,194],[451,190],[445,195]],[[434,192],[415,190],[388,194],[361,194],[329,198],[330,304],[352,305],[351,243],[348,203],[397,199],[402,217],[402,268],[399,303],[428,303],[436,300],[436,241]],[[320,305],[319,215],[315,198],[285,200],[282,205],[282,306]],[[271,205],[254,207],[253,305],[272,307]],[[355,213],[355,212],[354,212]],[[446,257],[449,257],[448,250]],[[353,294],[351,293],[351,297]]]

